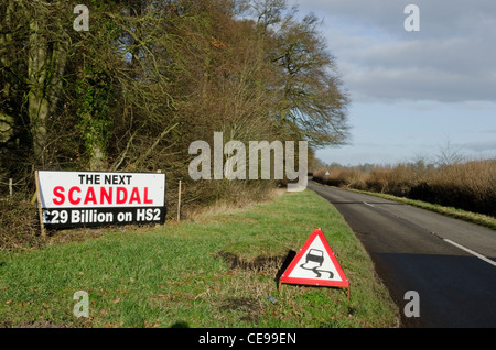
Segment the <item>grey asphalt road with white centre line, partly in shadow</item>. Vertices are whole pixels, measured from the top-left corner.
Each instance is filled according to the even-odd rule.
[[[401,327],[496,327],[495,230],[312,181],[308,187],[359,238],[400,309]],[[419,317],[403,313],[408,291],[418,293]]]

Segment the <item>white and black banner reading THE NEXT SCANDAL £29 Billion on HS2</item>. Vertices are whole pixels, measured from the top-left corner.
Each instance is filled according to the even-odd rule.
[[[42,227],[163,223],[165,174],[36,172]]]

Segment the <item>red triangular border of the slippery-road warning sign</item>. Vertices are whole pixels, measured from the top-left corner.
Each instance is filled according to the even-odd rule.
[[[331,263],[334,265],[335,271],[337,272],[339,276],[339,281],[337,280],[326,280],[326,278],[317,278],[317,277],[291,277],[291,273],[293,270],[298,266],[298,263],[302,260],[303,256],[308,254],[308,251],[311,250],[313,242],[315,239],[319,238],[325,249],[325,252],[327,253],[328,258],[331,259]],[[314,259],[315,261],[319,261],[317,258]],[[288,269],[285,269],[284,273],[280,277],[280,283],[288,283],[288,284],[302,284],[302,285],[313,285],[313,286],[328,286],[328,287],[347,287],[348,288],[348,297],[349,297],[349,281],[346,277],[343,269],[341,267],[339,263],[337,262],[336,256],[334,255],[333,250],[331,249],[327,240],[324,237],[324,233],[321,229],[315,229],[312,234],[309,237],[306,242],[303,244],[303,247],[300,249],[300,251],[296,253],[296,255],[293,258],[291,263],[289,264]]]

